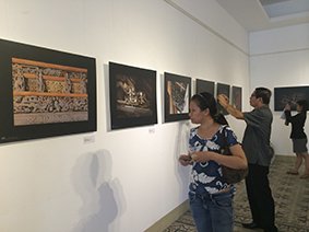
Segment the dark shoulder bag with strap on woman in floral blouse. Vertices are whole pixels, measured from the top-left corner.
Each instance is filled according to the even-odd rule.
[[[222,154],[224,155],[231,155],[228,144],[227,144],[227,139],[225,137],[225,128],[222,130],[223,138],[224,138],[224,148],[222,149]],[[228,184],[236,184],[238,182],[241,182],[242,179],[246,178],[248,175],[248,167],[247,169],[231,169],[225,165],[222,165],[222,176],[223,179],[228,183]]]

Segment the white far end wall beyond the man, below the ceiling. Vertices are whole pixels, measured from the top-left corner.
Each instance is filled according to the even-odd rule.
[[[250,34],[251,88],[309,85],[309,24]],[[271,108],[274,109],[274,97]],[[296,112],[294,112],[296,114]],[[276,154],[293,155],[290,126],[274,112],[272,143]],[[309,135],[309,123],[305,125]]]

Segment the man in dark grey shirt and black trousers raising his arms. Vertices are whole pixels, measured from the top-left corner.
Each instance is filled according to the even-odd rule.
[[[253,111],[242,113],[229,104],[226,95],[218,95],[218,103],[234,117],[246,121],[242,139],[249,173],[246,177],[247,196],[252,222],[242,223],[243,228],[262,228],[264,232],[277,232],[275,225],[275,205],[270,188],[269,172],[273,154],[270,152],[270,138],[273,115],[269,107],[271,91],[257,88],[250,96]]]

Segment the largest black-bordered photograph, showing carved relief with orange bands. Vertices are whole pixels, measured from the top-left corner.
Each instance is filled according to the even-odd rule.
[[[95,58],[0,39],[0,142],[96,130]]]

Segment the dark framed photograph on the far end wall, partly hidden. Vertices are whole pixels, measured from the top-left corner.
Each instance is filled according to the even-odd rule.
[[[287,103],[290,104],[292,111],[296,111],[298,100],[309,102],[309,86],[274,88],[274,108],[276,112],[282,112]]]

